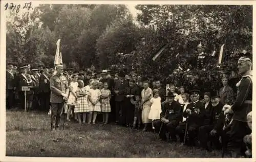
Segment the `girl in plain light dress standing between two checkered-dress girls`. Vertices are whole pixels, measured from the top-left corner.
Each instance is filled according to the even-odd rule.
[[[89,107],[91,110],[93,110],[93,124],[95,124],[95,120],[97,118],[97,112],[101,111],[100,108],[100,98],[101,92],[98,89],[98,83],[96,81],[92,82],[92,88],[89,90],[88,93],[88,101],[89,101]],[[91,121],[89,121],[90,123]]]

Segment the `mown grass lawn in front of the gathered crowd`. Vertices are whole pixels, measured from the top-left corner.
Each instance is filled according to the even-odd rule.
[[[221,153],[163,142],[153,132],[132,131],[114,124],[68,122],[65,130],[61,127],[51,132],[48,114],[7,111],[6,156],[221,157]]]

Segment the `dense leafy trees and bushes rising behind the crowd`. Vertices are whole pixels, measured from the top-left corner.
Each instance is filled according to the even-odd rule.
[[[53,66],[55,43],[61,38],[67,66],[95,65],[166,78],[178,65],[185,67],[200,41],[206,53],[217,55],[225,43],[222,67],[230,70],[236,68],[229,67],[236,62],[227,59],[231,52],[252,51],[252,6],[137,5],[136,9],[140,11],[136,21],[125,5],[40,5],[29,14],[12,13],[7,22],[7,61]],[[209,70],[216,66],[217,56],[211,62]]]

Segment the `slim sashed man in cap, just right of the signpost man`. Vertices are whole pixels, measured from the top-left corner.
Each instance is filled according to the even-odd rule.
[[[38,69],[33,68],[31,72],[32,72],[31,79],[35,82],[35,85],[36,85],[36,87],[34,88],[32,108],[36,108],[36,107],[39,107],[39,93],[38,93],[39,77],[37,75]]]

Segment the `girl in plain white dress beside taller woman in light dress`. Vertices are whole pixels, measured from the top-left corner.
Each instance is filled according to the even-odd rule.
[[[153,98],[150,99],[150,103],[151,108],[150,114],[148,114],[148,119],[152,120],[152,129],[155,129],[153,121],[160,119],[160,113],[162,112],[161,98],[159,97],[158,89],[153,90]]]

